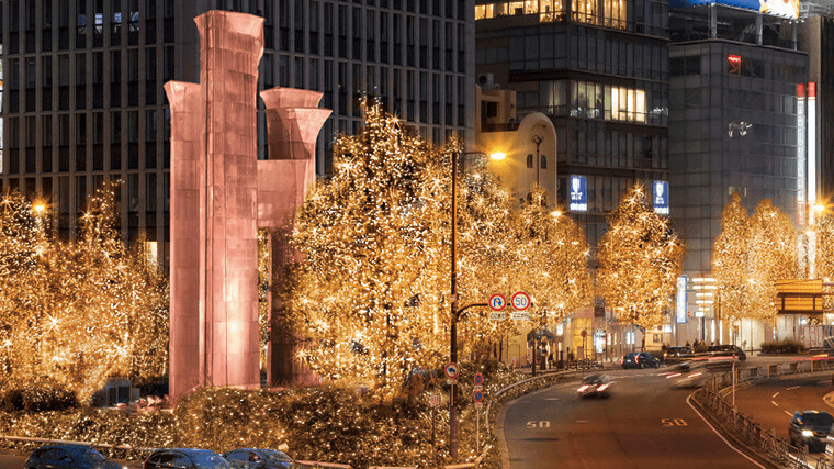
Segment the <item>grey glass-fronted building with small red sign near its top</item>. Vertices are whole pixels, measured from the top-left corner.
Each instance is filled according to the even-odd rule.
[[[710,33],[711,14],[723,30]],[[808,79],[808,55],[797,51],[790,22],[780,32],[763,27],[762,16],[721,5],[672,14],[670,200],[690,278],[711,273],[712,245],[733,193],[751,212],[769,199],[794,223],[802,221],[798,88]]]

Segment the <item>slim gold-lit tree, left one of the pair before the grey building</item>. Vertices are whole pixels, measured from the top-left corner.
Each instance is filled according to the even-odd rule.
[[[751,306],[750,287],[750,235],[751,220],[734,193],[721,213],[721,234],[715,238],[712,256],[712,275],[715,278],[721,315],[728,321],[748,317]]]

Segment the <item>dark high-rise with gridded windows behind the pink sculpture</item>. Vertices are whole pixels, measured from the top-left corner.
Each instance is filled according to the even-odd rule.
[[[264,18],[259,90],[324,92],[334,114],[319,135],[319,175],[334,135],[361,124],[362,98],[380,99],[426,139],[460,132],[474,142],[474,0],[0,0],[2,188],[43,198],[68,237],[94,189],[121,180],[125,239],[146,233],[167,264],[162,86],[199,81],[193,19],[208,10]],[[267,158],[262,112],[258,133]]]

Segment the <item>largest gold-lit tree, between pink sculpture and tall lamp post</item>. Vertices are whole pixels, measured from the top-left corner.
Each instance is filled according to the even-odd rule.
[[[435,149],[379,107],[334,147],[334,176],[301,209],[285,301],[319,377],[396,392],[449,348],[451,145]],[[444,200],[447,199],[447,200]]]

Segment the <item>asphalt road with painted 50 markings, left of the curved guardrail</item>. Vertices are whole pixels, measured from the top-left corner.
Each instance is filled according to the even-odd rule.
[[[687,404],[691,390],[670,389],[665,371],[609,371],[607,400],[581,400],[571,382],[514,401],[503,420],[509,468],[760,467],[728,446]]]

